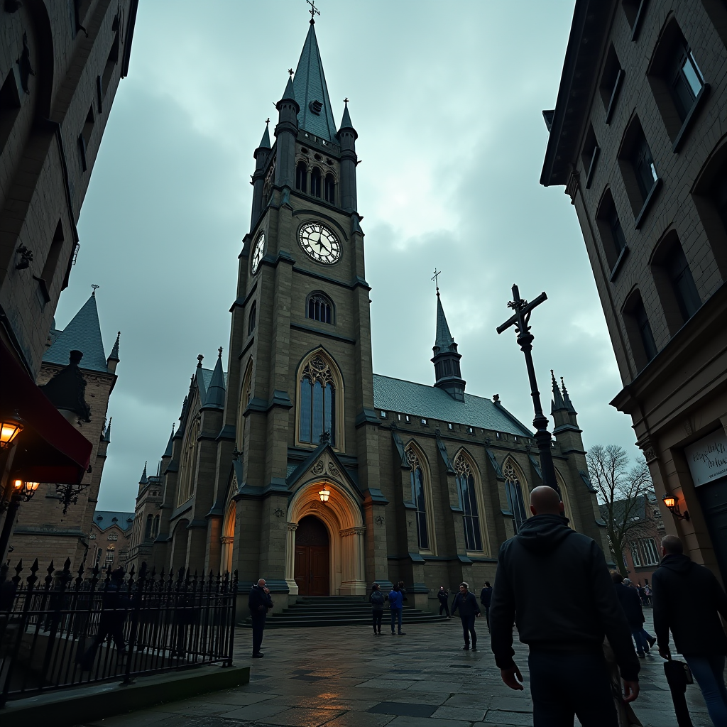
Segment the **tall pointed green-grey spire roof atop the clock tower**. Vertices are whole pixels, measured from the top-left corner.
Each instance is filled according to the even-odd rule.
[[[298,67],[295,69],[293,89],[295,100],[300,106],[298,128],[316,134],[321,139],[335,142],[336,122],[333,120],[331,100],[328,96],[326,76],[323,72],[321,52],[318,50],[318,40],[313,24],[310,25],[308,35],[305,36]],[[320,113],[311,111],[309,104],[313,101],[323,104]]]

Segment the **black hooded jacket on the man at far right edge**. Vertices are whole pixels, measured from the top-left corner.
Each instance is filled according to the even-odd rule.
[[[727,654],[719,614],[727,619],[727,595],[715,574],[686,555],[665,555],[651,579],[654,630],[659,648],[674,646],[684,656]]]

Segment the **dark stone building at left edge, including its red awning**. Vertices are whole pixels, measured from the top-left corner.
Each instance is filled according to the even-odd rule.
[[[136,12],[137,0],[0,7],[0,421],[23,427],[0,447],[0,559],[19,505],[12,483],[76,483],[92,457],[88,427],[56,411],[36,379]]]

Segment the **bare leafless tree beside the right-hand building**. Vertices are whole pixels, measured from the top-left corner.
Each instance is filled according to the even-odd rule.
[[[591,483],[598,493],[603,520],[606,521],[611,555],[625,576],[624,548],[641,534],[649,518],[646,494],[654,489],[651,473],[643,458],[629,468],[626,450],[616,444],[591,447],[586,461]]]

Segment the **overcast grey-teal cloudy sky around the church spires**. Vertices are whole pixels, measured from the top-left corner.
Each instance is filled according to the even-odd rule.
[[[305,34],[304,0],[145,0],[79,222],[58,306],[63,327],[97,292],[108,355],[121,330],[100,510],[133,510],[203,353],[229,340],[249,229],[252,152],[276,120]],[[337,122],[358,131],[374,371],[433,383],[435,266],[467,391],[533,418],[510,287],[548,300],[532,316],[550,411],[566,379],[585,446],[638,454],[576,215],[539,185],[574,0],[321,0],[316,33]]]

